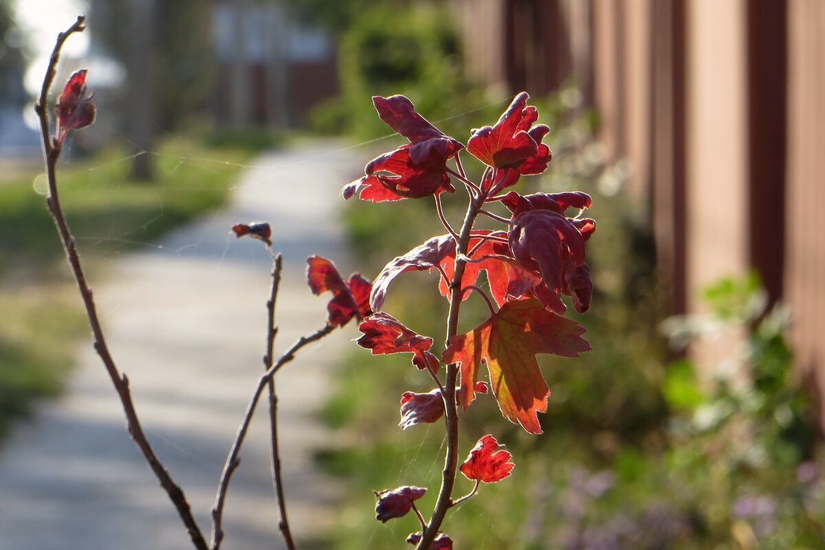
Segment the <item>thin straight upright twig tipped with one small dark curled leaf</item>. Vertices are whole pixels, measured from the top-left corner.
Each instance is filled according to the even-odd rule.
[[[272,356],[275,350],[275,337],[278,328],[275,326],[275,306],[278,298],[278,289],[281,286],[281,269],[283,268],[283,258],[281,254],[272,251],[269,243],[266,243],[266,252],[272,258],[272,284],[269,299],[266,301],[266,355],[263,356],[264,369],[272,366]],[[269,392],[269,433],[271,443],[271,467],[272,467],[272,487],[278,499],[278,510],[281,513],[281,520],[278,521],[278,529],[284,538],[284,543],[288,550],[295,550],[295,542],[292,539],[290,529],[290,519],[286,513],[286,497],[284,495],[284,482],[281,477],[281,453],[278,449],[278,396],[275,391],[275,377],[270,378],[267,384]]]

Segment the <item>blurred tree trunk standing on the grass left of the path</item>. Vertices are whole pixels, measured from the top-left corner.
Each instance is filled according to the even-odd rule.
[[[130,0],[129,49],[126,64],[129,82],[126,85],[126,117],[129,134],[142,154],[134,157],[130,180],[146,181],[153,176],[152,150],[155,138],[153,90],[153,46],[155,0]]]

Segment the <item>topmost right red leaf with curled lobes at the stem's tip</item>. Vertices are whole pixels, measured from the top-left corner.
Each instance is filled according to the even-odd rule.
[[[540,174],[550,162],[550,150],[541,143],[549,132],[545,125],[530,127],[539,118],[539,111],[528,106],[530,96],[521,92],[493,126],[473,130],[467,142],[467,151],[484,164],[508,172],[497,175],[502,178],[495,187],[512,186],[519,175]],[[483,185],[488,189],[491,185]]]

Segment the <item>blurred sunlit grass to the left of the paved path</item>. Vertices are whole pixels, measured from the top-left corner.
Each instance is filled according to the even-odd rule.
[[[131,159],[119,150],[59,165],[60,198],[92,284],[105,276],[99,258],[150,245],[224,204],[248,157],[182,138],[151,154],[153,181],[129,181]],[[0,179],[0,436],[33,400],[59,393],[73,343],[87,335],[45,185],[36,174]]]

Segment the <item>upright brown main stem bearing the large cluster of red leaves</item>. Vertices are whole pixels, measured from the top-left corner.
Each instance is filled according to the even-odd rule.
[[[450,313],[447,316],[446,346],[450,345],[450,339],[458,332],[459,309],[461,306],[461,280],[464,277],[464,267],[466,261],[462,258],[467,252],[470,234],[473,231],[473,223],[479,215],[479,211],[484,203],[485,195],[481,194],[471,198],[467,206],[467,213],[464,214],[464,224],[461,226],[461,233],[455,243],[455,272],[453,281],[450,284]],[[446,365],[446,380],[441,396],[444,398],[444,418],[446,424],[447,450],[444,457],[444,470],[441,472],[441,489],[438,492],[436,507],[432,510],[430,523],[422,532],[422,538],[418,541],[417,550],[429,550],[432,541],[436,538],[441,523],[447,510],[452,503],[453,485],[455,484],[455,470],[458,468],[458,446],[459,446],[459,419],[458,411],[455,407],[455,384],[458,379],[458,365],[450,363]]]

